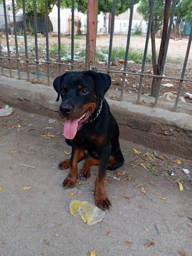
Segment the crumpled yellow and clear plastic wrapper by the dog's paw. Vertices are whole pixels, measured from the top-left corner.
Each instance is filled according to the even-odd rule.
[[[70,212],[76,218],[82,218],[82,220],[89,226],[102,221],[105,215],[105,211],[102,211],[94,204],[79,200],[71,201]]]

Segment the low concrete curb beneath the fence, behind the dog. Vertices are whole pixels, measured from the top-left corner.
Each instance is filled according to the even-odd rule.
[[[109,91],[110,94],[114,91]],[[133,96],[132,96],[133,97]],[[59,119],[52,87],[0,76],[0,101],[24,111]],[[192,159],[192,118],[186,113],[107,99],[117,119],[120,137],[144,146]]]

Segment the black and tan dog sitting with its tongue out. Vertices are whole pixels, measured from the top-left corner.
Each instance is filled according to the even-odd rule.
[[[70,168],[63,181],[65,188],[75,186],[77,163],[85,157],[84,149],[92,158],[85,160],[80,172],[82,179],[90,177],[90,166],[99,165],[95,181],[95,204],[109,209],[110,201],[104,191],[106,169],[114,170],[124,163],[119,146],[119,127],[104,99],[111,84],[110,76],[93,70],[67,72],[54,80],[54,89],[61,96],[59,114],[66,118],[63,134],[72,146],[71,159],[59,163],[61,169]]]

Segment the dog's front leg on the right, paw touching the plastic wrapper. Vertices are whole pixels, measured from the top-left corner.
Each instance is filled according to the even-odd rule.
[[[111,144],[102,148],[99,154],[99,171],[95,181],[95,205],[102,210],[109,209],[111,204],[104,191],[106,168],[111,153]]]

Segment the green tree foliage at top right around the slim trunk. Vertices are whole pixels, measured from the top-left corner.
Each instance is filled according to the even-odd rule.
[[[154,20],[155,31],[161,29],[164,18],[164,0],[155,0],[154,3]],[[149,0],[141,0],[137,11],[143,16],[144,20],[149,20]],[[182,21],[192,20],[192,1],[177,0],[175,6],[174,23],[179,28]]]

